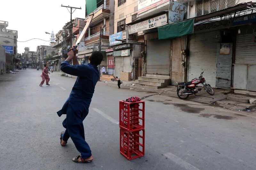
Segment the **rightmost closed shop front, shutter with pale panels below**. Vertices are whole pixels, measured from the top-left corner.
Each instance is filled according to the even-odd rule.
[[[240,26],[236,36],[236,59],[234,65],[234,92],[256,95],[256,37],[255,24]]]

